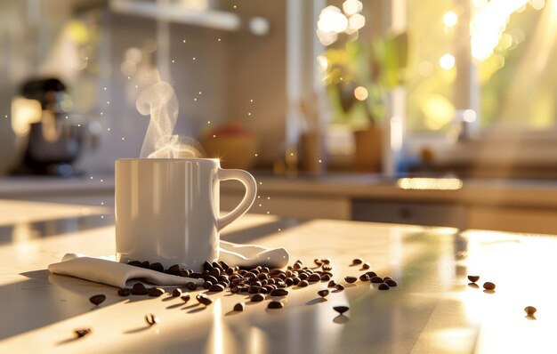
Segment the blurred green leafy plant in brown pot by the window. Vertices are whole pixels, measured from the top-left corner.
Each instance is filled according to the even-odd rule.
[[[380,172],[389,90],[403,84],[408,56],[406,33],[348,42],[325,52],[325,84],[337,123],[354,132],[354,170]]]

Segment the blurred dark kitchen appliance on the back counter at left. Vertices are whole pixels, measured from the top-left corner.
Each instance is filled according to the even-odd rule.
[[[86,142],[98,140],[95,125],[73,113],[66,85],[57,78],[27,81],[12,100],[12,129],[20,138],[14,174],[72,176]]]

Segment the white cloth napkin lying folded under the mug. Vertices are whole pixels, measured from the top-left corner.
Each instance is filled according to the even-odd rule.
[[[221,240],[220,261],[230,266],[253,268],[257,265],[283,268],[289,255],[284,248],[265,248],[259,245],[238,245]],[[59,263],[48,266],[52,273],[82,278],[109,286],[130,287],[138,281],[158,286],[185,286],[189,282],[203,283],[203,279],[183,278],[117,262],[115,257],[90,257],[68,253]]]

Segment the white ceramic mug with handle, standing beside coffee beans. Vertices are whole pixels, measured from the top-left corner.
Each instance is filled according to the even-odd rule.
[[[117,159],[118,261],[179,264],[202,270],[219,257],[219,231],[254,203],[257,185],[243,170],[223,170],[215,158]],[[246,195],[219,217],[220,181],[238,180]]]

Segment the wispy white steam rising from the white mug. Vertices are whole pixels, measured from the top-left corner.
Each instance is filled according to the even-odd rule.
[[[141,158],[198,158],[203,149],[192,138],[173,134],[178,118],[178,99],[168,83],[159,81],[143,90],[136,109],[143,116],[150,116]]]

